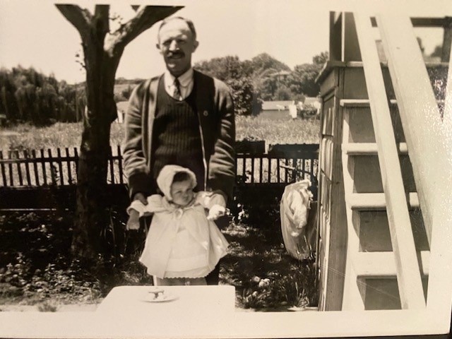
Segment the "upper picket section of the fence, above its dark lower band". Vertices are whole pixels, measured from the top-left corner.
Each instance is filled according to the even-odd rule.
[[[306,149],[237,153],[236,173],[244,184],[287,184],[316,178],[318,145]],[[0,186],[73,185],[77,181],[78,149],[0,150]],[[121,148],[111,148],[107,182],[125,184]]]

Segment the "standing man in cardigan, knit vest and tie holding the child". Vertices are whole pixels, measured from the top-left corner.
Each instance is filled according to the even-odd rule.
[[[191,67],[196,30],[190,20],[167,18],[157,49],[167,70],[138,85],[125,117],[124,169],[132,200],[147,203],[165,165],[188,167],[197,190],[232,198],[235,181],[234,105],[225,83]],[[218,284],[218,266],[206,277]]]

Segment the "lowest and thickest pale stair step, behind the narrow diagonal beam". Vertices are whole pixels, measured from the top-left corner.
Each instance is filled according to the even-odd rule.
[[[418,251],[421,275],[429,275],[430,251]],[[359,277],[395,277],[396,260],[393,252],[359,252],[352,258],[353,267]]]

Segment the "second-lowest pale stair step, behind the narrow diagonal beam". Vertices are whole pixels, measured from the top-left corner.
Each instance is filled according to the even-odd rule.
[[[346,197],[347,203],[354,210],[384,210],[386,198],[384,193],[352,193]],[[410,208],[419,208],[419,198],[416,192],[408,194]]]

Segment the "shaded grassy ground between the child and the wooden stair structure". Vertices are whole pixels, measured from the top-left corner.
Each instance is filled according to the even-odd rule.
[[[222,259],[222,282],[236,287],[236,306],[256,311],[316,307],[315,258],[287,254],[277,225],[263,230],[232,223],[224,231],[230,254]]]

